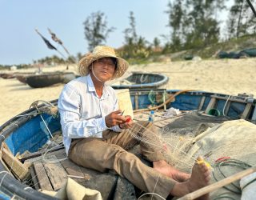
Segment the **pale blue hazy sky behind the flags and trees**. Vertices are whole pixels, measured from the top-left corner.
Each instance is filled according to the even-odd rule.
[[[70,51],[88,52],[83,22],[90,14],[102,11],[110,33],[106,45],[118,48],[124,43],[123,31],[130,27],[130,11],[134,12],[138,35],[153,42],[155,37],[170,34],[166,26],[168,0],[0,0],[0,64],[28,64],[33,60],[59,54],[46,47],[39,32],[58,50],[62,46],[51,40],[47,28],[60,38]],[[65,54],[66,55],[66,54]]]

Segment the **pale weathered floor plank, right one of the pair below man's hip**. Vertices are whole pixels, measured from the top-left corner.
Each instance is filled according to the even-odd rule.
[[[46,169],[46,174],[48,175],[53,189],[59,190],[66,183],[67,174],[66,170],[63,168],[62,164],[58,162],[58,158],[52,155],[51,158],[44,160],[43,166]]]

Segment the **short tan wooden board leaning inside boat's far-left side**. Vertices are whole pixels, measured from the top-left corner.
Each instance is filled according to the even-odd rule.
[[[24,180],[28,174],[29,170],[26,166],[22,164],[15,158],[14,155],[6,148],[2,148],[2,160],[6,163],[6,166],[21,180]]]

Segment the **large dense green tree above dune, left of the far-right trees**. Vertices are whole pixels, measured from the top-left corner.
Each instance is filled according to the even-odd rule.
[[[220,35],[218,12],[225,9],[224,0],[177,0],[166,10],[170,27],[171,51],[198,48],[218,42]]]

